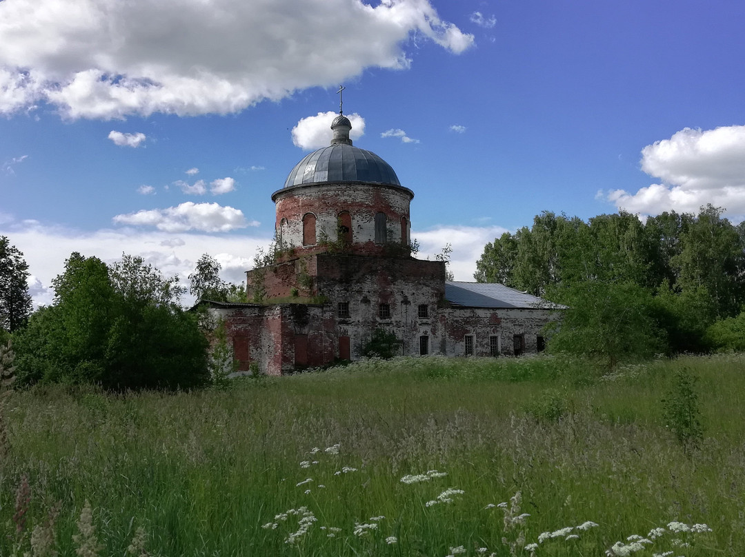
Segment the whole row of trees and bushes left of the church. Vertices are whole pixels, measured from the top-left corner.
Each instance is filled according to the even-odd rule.
[[[244,302],[202,255],[189,276],[197,299]],[[12,339],[16,385],[96,383],[106,389],[176,389],[214,378],[204,313],[180,305],[186,287],[141,257],[107,264],[74,252],[52,281],[54,301],[32,311],[28,265],[0,237],[0,346]],[[4,348],[7,350],[7,348]]]

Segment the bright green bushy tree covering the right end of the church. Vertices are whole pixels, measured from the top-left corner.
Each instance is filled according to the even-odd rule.
[[[595,357],[609,369],[624,358],[663,351],[652,296],[637,284],[580,282],[557,288],[553,297],[568,308],[559,322],[547,325],[550,351]]]

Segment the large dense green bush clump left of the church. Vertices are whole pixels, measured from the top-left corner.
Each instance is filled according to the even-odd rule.
[[[182,289],[142,258],[111,269],[73,253],[54,279],[54,304],[16,339],[19,383],[99,383],[107,389],[188,387],[206,381],[206,340]]]

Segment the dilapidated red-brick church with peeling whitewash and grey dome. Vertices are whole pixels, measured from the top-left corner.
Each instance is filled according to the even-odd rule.
[[[276,240],[247,271],[248,303],[206,303],[238,371],[284,375],[364,356],[373,335],[407,356],[499,356],[544,347],[551,304],[501,284],[446,280],[414,257],[414,193],[381,157],[352,144],[349,118],[272,194]],[[377,333],[376,333],[377,331]]]

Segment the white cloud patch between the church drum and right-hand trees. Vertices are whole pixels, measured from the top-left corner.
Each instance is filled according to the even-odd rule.
[[[484,253],[487,242],[494,241],[507,229],[502,226],[437,226],[425,231],[412,231],[411,238],[419,241],[419,259],[434,259],[446,244],[453,248],[449,270],[457,281],[473,281],[476,261]]]

